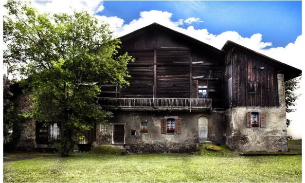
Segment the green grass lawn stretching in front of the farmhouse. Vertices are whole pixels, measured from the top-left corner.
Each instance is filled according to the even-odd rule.
[[[71,153],[6,162],[4,182],[302,182],[301,155]]]

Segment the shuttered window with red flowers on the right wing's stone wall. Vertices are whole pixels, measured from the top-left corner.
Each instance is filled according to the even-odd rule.
[[[247,128],[260,127],[265,128],[265,112],[248,111],[247,112]]]

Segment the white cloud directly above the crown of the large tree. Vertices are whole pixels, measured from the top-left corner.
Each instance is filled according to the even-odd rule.
[[[101,0],[48,0],[48,1],[33,1],[33,5],[40,12],[68,13],[72,14],[73,10],[88,11],[90,14],[103,11],[104,6]]]

